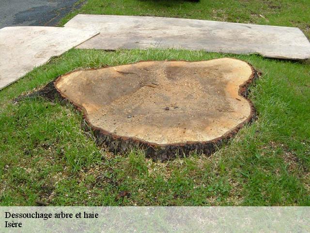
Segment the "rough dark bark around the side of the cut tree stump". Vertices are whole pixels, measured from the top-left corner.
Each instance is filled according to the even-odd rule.
[[[141,140],[139,138],[120,136],[115,133],[110,133],[108,131],[95,127],[88,120],[82,106],[79,106],[77,103],[66,99],[58,91],[57,87],[55,86],[55,83],[63,75],[58,77],[56,80],[48,83],[42,89],[35,91],[29,95],[21,96],[17,98],[15,101],[20,101],[25,98],[43,97],[43,98],[46,98],[52,101],[57,99],[57,100],[61,100],[64,103],[71,102],[83,114],[84,121],[82,123],[82,128],[87,132],[93,133],[97,146],[107,148],[110,152],[126,153],[133,149],[139,148],[140,150],[145,151],[145,156],[150,157],[154,160],[160,160],[160,161],[165,161],[165,160],[173,159],[176,157],[188,156],[190,155],[191,152],[211,155],[213,152],[217,150],[218,147],[223,145],[223,143],[227,142],[236,133],[238,133],[238,131],[244,125],[251,123],[256,118],[256,110],[251,100],[248,99],[248,93],[249,93],[249,86],[251,83],[254,82],[254,80],[258,78],[258,73],[250,64],[248,65],[252,69],[252,75],[249,77],[249,79],[245,83],[239,86],[238,94],[239,96],[242,96],[248,100],[248,103],[250,104],[250,108],[251,108],[250,116],[248,116],[248,118],[245,121],[237,125],[231,131],[223,134],[221,137],[215,138],[210,141],[159,145],[156,143],[150,143],[150,142]],[[64,75],[67,75],[67,74],[64,74]]]

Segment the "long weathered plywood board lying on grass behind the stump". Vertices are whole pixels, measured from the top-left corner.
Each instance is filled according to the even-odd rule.
[[[66,28],[100,31],[80,49],[177,48],[285,59],[310,58],[310,43],[298,28],[184,18],[77,15]]]

